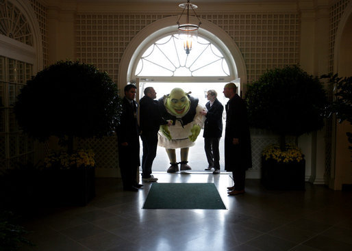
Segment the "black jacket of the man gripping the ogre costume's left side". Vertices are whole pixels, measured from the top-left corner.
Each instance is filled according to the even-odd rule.
[[[140,98],[140,130],[142,135],[158,135],[160,124],[167,124],[162,118],[158,101],[149,96]]]

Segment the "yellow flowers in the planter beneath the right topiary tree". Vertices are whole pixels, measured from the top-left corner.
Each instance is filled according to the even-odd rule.
[[[279,144],[266,146],[262,152],[265,160],[274,159],[278,163],[301,162],[304,158],[301,148],[286,144],[286,150],[281,150]]]

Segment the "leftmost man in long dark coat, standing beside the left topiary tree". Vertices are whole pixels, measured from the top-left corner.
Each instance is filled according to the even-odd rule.
[[[140,166],[138,103],[134,101],[136,90],[136,85],[125,86],[121,123],[117,127],[118,162],[125,191],[138,191],[138,188],[143,186],[136,181],[138,167]]]

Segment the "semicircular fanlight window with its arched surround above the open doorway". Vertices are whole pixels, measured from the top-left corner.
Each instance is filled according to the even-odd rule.
[[[149,60],[150,56],[147,57],[147,55],[153,55],[153,51],[154,53],[158,51],[160,58],[170,58],[168,55],[165,56],[156,45],[160,43],[160,46],[162,46],[161,44],[166,43],[171,38],[177,38],[176,22],[177,16],[162,18],[151,23],[134,36],[121,58],[121,64],[118,69],[118,88],[122,89],[126,83],[136,83],[138,79],[138,81],[151,81],[154,83],[225,83],[238,79],[242,88],[242,83],[247,81],[247,69],[240,49],[223,29],[203,19],[201,19],[202,27],[199,28],[198,33],[199,41],[192,44],[192,50],[187,59],[187,62],[191,64],[191,58],[194,57],[193,68],[191,67],[189,70],[186,66],[190,66],[190,64],[184,64],[183,68],[179,67],[178,70],[175,70],[177,64],[173,66],[171,64],[172,60],[171,62],[167,60],[167,64]],[[198,55],[200,55],[196,49],[199,45],[198,42],[205,44],[199,48],[204,49],[208,46],[206,51],[208,51],[209,55],[212,55],[210,57],[213,59],[212,61],[208,61],[205,64],[206,60],[201,60],[200,57],[197,59]],[[175,48],[179,51],[177,55],[186,57],[183,44],[176,44]],[[174,52],[176,50],[173,49]],[[170,53],[170,51],[167,51],[167,53]],[[214,60],[214,58],[218,61]],[[179,61],[182,62],[181,59]],[[157,72],[157,75],[146,70],[148,69],[146,68],[147,64],[154,67],[156,66],[155,63],[159,65],[155,68],[162,69]],[[166,67],[166,65],[168,66]],[[172,67],[169,67],[170,65]],[[181,63],[179,65],[182,66]],[[220,70],[214,73],[212,72],[214,69]]]

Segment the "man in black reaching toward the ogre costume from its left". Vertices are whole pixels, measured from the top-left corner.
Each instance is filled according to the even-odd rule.
[[[155,101],[156,92],[154,88],[147,87],[144,89],[144,96],[140,98],[140,138],[143,143],[143,157],[142,157],[142,181],[155,182],[157,178],[151,174],[151,166],[156,156],[156,149],[158,147],[158,131],[161,124],[168,124],[162,118],[159,111],[159,103]]]

